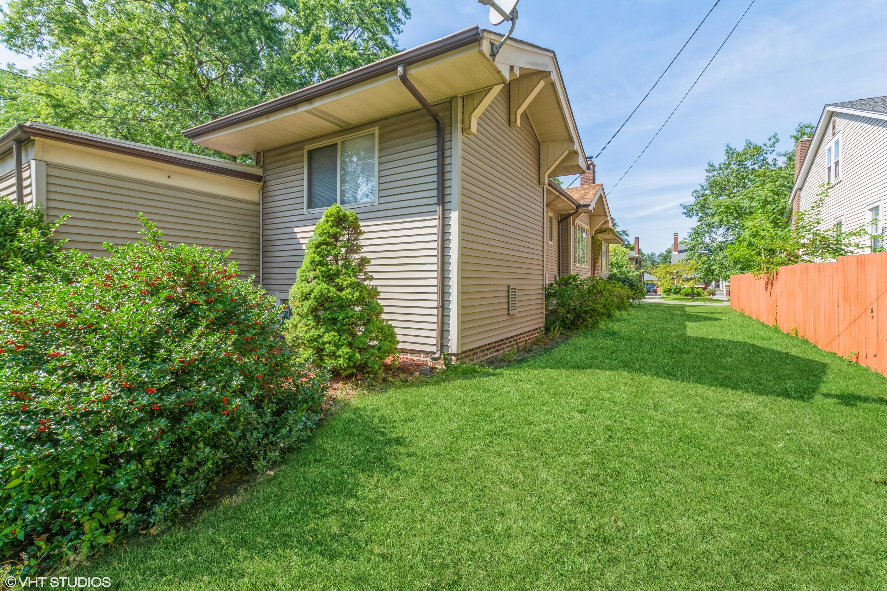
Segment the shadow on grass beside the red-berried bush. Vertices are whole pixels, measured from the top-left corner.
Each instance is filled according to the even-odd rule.
[[[228,565],[261,569],[294,556],[332,561],[360,553],[366,541],[359,535],[362,517],[349,506],[376,494],[373,483],[398,469],[404,439],[390,431],[372,410],[344,408],[324,422],[308,447],[274,466],[272,478],[247,486],[189,525],[156,538],[130,536],[72,574],[107,572],[123,587],[137,580],[158,585],[170,572],[223,574]]]

